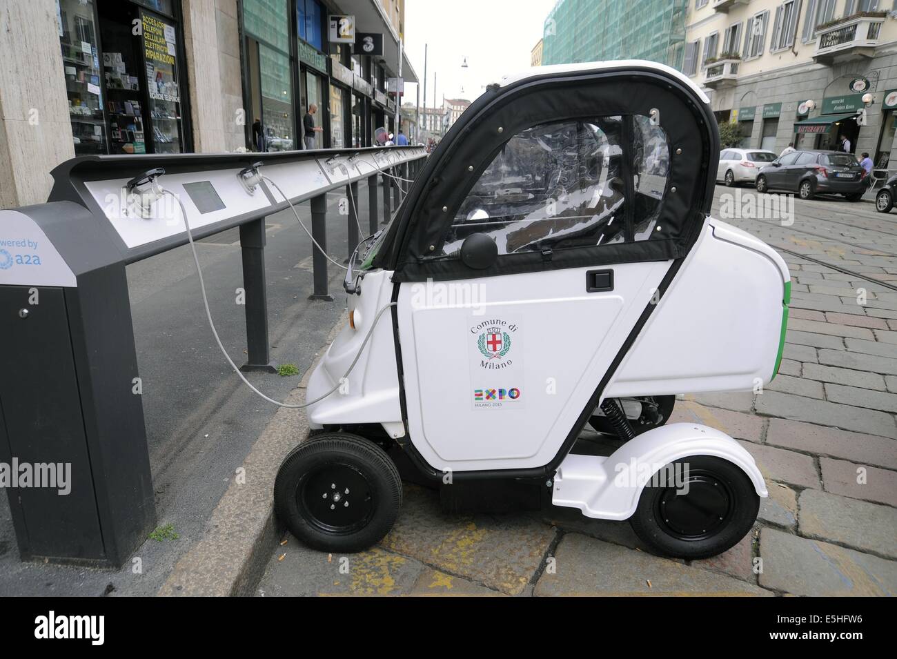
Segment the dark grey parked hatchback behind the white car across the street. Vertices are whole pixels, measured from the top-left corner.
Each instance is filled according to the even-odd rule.
[[[858,202],[867,190],[866,170],[850,153],[793,151],[773,160],[757,173],[757,191],[797,192],[801,199],[823,193],[844,195]]]

